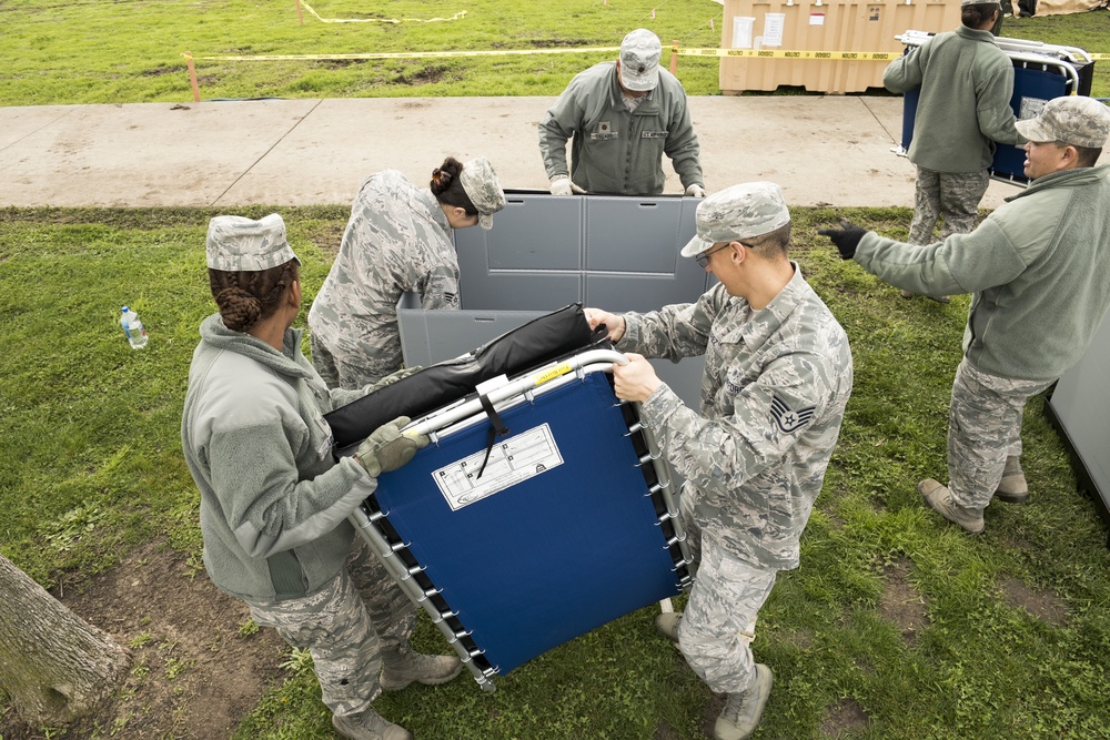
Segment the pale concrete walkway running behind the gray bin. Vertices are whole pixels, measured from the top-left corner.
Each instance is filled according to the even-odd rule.
[[[536,124],[553,98],[210,101],[0,108],[0,206],[346,204],[393,168],[425,182],[447,154],[485,155],[506,189],[547,187]],[[690,98],[709,192],[777,182],[791,205],[905,205],[890,149],[901,99]],[[666,193],[680,193],[669,166]],[[992,182],[982,205],[1018,191]]]

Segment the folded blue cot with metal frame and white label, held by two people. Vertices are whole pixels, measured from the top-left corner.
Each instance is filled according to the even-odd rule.
[[[432,444],[351,516],[483,690],[690,585],[670,473],[606,373],[624,362],[587,347],[480,381],[406,427]]]

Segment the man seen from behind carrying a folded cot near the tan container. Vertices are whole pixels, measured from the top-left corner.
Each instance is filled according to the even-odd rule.
[[[991,34],[1002,17],[997,2],[962,0],[961,26],[938,33],[890,62],[882,84],[890,92],[920,89],[909,161],[917,166],[910,244],[966,234],[979,217],[990,183],[995,142],[1020,144],[1013,128],[1013,64]],[[914,297],[902,291],[904,298]],[[935,300],[948,303],[948,297]]]

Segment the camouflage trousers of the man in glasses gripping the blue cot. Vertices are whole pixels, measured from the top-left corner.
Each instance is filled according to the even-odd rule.
[[[756,617],[770,596],[777,571],[739,560],[712,536],[704,537],[693,499],[684,495],[679,503],[697,578],[678,624],[678,649],[710,689],[739,693],[755,679]]]

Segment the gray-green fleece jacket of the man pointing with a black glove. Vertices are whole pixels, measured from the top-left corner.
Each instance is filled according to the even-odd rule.
[[[896,287],[972,293],[963,352],[978,371],[1050,382],[1110,308],[1110,165],[1037,178],[970,234],[917,246],[868,232],[855,260]]]

